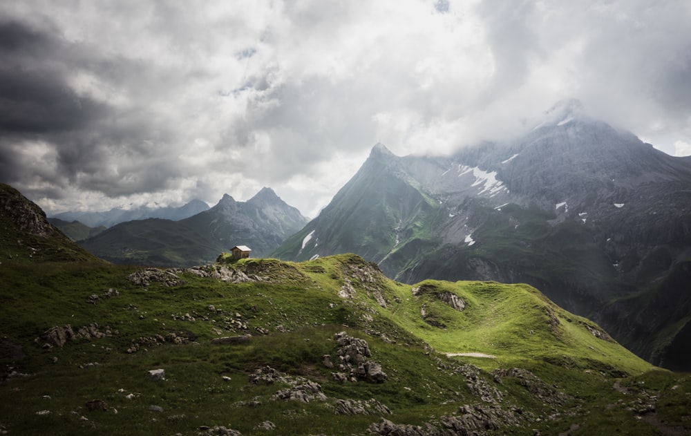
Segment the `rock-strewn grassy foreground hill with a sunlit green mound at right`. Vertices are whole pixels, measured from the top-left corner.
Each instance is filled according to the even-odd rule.
[[[688,376],[527,285],[404,285],[350,254],[3,260],[0,283],[10,435],[691,431]]]

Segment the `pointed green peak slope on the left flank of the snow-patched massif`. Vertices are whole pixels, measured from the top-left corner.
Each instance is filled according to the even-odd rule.
[[[438,205],[399,174],[390,151],[377,144],[319,216],[287,238],[272,256],[308,260],[323,253],[354,252],[377,262],[392,256],[390,263],[396,263],[401,257],[395,253],[406,245],[427,244],[432,238],[429,222]]]

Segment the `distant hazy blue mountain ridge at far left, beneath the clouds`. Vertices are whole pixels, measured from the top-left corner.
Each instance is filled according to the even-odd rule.
[[[209,210],[202,200],[191,200],[180,207],[148,207],[141,206],[135,209],[113,208],[103,212],[67,211],[55,214],[51,218],[57,218],[66,222],[79,221],[88,227],[113,227],[120,222],[132,220],[145,220],[146,218],[162,218],[178,221]]]

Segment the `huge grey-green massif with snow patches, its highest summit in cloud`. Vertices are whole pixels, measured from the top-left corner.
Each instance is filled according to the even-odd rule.
[[[691,370],[691,158],[560,102],[515,140],[447,157],[377,144],[274,252],[354,252],[391,278],[529,283],[637,354]]]

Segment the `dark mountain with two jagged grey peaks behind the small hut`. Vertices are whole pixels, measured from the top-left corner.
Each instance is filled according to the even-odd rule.
[[[307,218],[270,188],[247,202],[225,195],[207,211],[179,221],[149,218],[121,222],[79,245],[113,263],[193,266],[212,262],[234,245],[248,245],[265,256]]]

